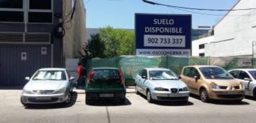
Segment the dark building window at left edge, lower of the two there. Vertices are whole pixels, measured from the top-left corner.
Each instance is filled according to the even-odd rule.
[[[0,22],[23,22],[23,12],[0,11]]]

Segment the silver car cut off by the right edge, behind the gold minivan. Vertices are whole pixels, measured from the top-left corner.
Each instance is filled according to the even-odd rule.
[[[245,95],[256,98],[256,69],[231,69],[228,72],[237,80],[244,82]]]

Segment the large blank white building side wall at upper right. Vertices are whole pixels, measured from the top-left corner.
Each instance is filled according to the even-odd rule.
[[[241,0],[233,9],[256,8],[255,0]],[[215,25],[215,42],[205,46],[211,57],[252,55],[256,41],[256,10],[231,11]]]

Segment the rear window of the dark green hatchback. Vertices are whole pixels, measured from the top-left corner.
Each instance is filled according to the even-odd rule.
[[[119,79],[118,71],[116,69],[95,69],[92,79]]]

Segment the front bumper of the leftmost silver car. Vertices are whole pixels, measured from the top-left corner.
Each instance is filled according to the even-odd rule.
[[[51,104],[63,103],[67,100],[67,95],[62,94],[25,94],[22,93],[21,101],[25,104]]]

